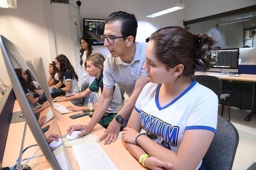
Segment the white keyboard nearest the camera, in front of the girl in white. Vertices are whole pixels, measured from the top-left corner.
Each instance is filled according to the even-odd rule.
[[[117,170],[98,142],[72,147],[80,170]]]

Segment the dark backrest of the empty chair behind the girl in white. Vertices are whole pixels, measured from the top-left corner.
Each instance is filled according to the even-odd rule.
[[[220,78],[209,75],[194,75],[192,79],[203,86],[210,88],[216,95],[219,96],[222,94],[222,83]]]

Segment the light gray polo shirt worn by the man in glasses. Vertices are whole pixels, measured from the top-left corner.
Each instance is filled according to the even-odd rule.
[[[114,58],[111,54],[108,55],[103,69],[103,85],[105,88],[112,88],[116,82],[130,97],[139,75],[147,76],[146,70],[142,69],[146,60],[146,43],[135,42],[135,45],[135,56],[131,63],[125,63],[120,57]]]

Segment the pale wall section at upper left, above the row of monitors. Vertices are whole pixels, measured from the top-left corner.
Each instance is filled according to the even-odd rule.
[[[18,0],[17,2],[18,9],[0,8],[0,34],[21,49],[25,60],[33,61],[34,58],[43,56],[44,62],[48,63],[49,43],[43,1]],[[0,52],[0,77],[5,84],[10,85],[2,52]]]

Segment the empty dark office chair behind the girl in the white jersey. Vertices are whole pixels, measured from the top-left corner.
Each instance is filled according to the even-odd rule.
[[[230,121],[230,95],[229,94],[222,94],[222,83],[221,79],[215,76],[209,75],[195,75],[193,78],[198,83],[202,84],[210,88],[216,95],[218,95],[218,103],[222,105],[221,107],[221,116],[223,116],[224,112],[224,103],[225,101],[228,102],[228,121]]]

